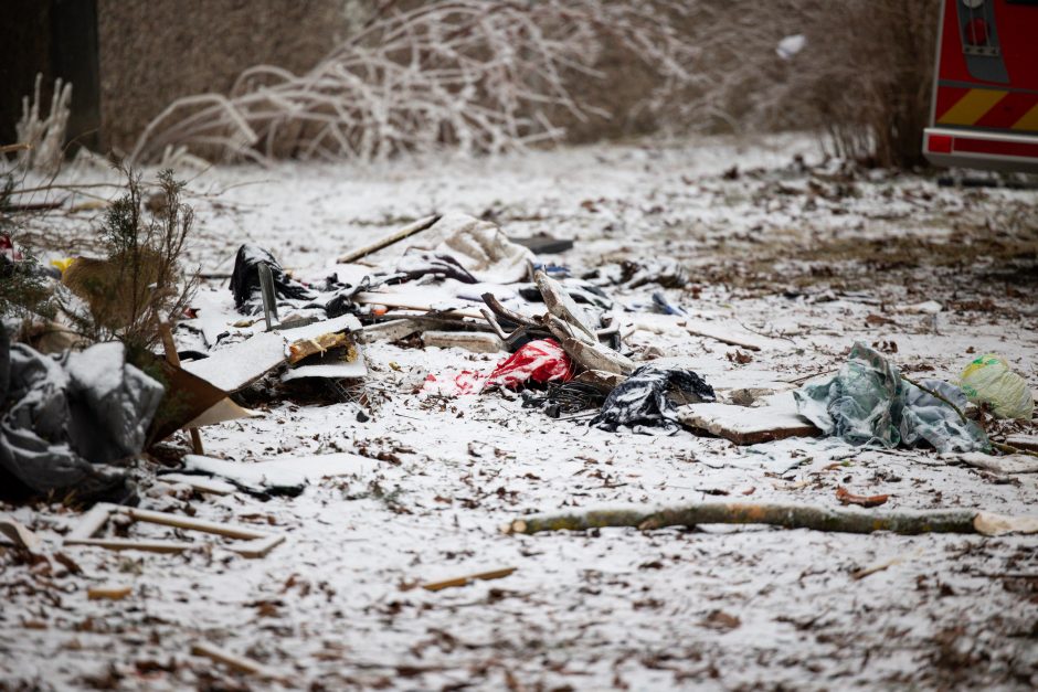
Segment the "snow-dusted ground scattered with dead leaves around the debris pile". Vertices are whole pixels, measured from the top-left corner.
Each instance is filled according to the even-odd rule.
[[[104,171],[71,173],[80,182]],[[462,211],[512,236],[575,246],[542,259],[584,274],[677,260],[681,285],[611,289],[636,360],[679,359],[722,396],[788,391],[836,370],[855,341],[911,376],[954,380],[995,352],[1038,387],[1038,192],[942,187],[932,173],[824,161],[798,138],[643,143],[357,168],[220,168],[190,180],[192,258],[230,273],[244,242],[300,277],[428,213]],[[100,188],[98,190],[105,190]],[[88,216],[32,231],[88,248]],[[371,258],[392,257],[390,248]],[[763,348],[692,336],[648,310],[738,324]],[[212,279],[200,300],[231,305]],[[211,543],[181,555],[61,546],[80,514],[4,508],[62,561],[0,546],[7,689],[1034,689],[1038,540],[850,535],[762,526],[505,535],[536,512],[710,499],[879,510],[1038,514],[1038,475],[933,450],[794,439],[745,448],[679,430],[608,433],[521,398],[416,394],[427,375],[489,371],[501,354],[378,342],[341,397],[251,403],[263,416],[203,429],[206,454],[250,464],[341,455],[347,475],[297,497],[197,494],[144,475],[142,507],[287,535],[248,560]],[[258,395],[256,395],[258,397]],[[754,408],[748,408],[752,416]],[[1035,422],[991,422],[1000,435]],[[186,439],[179,439],[183,447]],[[149,462],[150,467],[155,464]],[[160,528],[134,531],[168,534]],[[420,584],[516,567],[428,592]],[[864,574],[864,576],[862,576]],[[121,600],[87,588],[125,584]],[[208,641],[277,671],[261,682],[192,656]]]

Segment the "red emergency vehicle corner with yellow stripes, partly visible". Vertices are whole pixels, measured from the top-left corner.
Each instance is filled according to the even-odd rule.
[[[944,0],[923,153],[1038,173],[1038,0]]]

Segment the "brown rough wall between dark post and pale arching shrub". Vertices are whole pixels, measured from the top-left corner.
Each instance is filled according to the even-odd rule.
[[[133,148],[179,96],[226,93],[246,67],[313,66],[346,26],[342,0],[97,0],[104,145]]]

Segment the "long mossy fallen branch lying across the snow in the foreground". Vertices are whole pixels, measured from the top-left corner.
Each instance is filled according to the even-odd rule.
[[[785,529],[811,529],[837,533],[890,531],[902,535],[921,533],[983,533],[1038,531],[1038,518],[1006,518],[978,510],[861,512],[797,504],[703,502],[654,510],[592,510],[582,514],[557,514],[517,519],[506,533],[586,531],[606,526],[632,526],[642,531],[664,526],[699,524],[767,524]]]

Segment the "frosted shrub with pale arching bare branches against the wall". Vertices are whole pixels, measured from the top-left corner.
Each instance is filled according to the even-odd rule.
[[[689,46],[671,21],[687,11],[680,0],[449,0],[405,10],[383,2],[304,75],[261,65],[227,96],[178,99],[149,124],[130,160],[183,147],[224,158],[372,160],[558,141],[558,109],[604,115],[573,99],[570,84],[602,76],[594,65],[605,44],[650,64],[660,89],[688,79]]]

